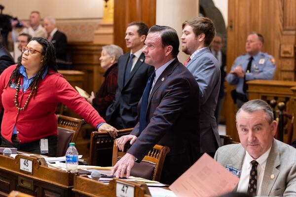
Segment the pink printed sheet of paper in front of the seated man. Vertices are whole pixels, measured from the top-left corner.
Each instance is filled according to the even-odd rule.
[[[204,154],[169,188],[177,197],[217,197],[232,192],[239,178]]]

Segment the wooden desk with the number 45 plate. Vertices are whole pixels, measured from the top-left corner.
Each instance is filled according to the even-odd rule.
[[[33,172],[20,171],[20,155],[15,159],[0,155],[0,197],[17,190],[35,197],[72,197],[74,174],[47,167],[44,159],[33,161]]]

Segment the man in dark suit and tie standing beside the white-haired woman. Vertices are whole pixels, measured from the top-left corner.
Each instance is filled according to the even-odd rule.
[[[147,25],[141,22],[130,23],[125,32],[126,47],[131,51],[118,59],[118,88],[106,112],[106,121],[116,129],[133,128],[138,122],[137,106],[154,70],[145,63],[142,52],[147,33]]]

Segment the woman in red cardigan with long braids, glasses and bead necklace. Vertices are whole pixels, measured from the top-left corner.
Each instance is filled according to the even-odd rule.
[[[34,37],[23,47],[17,65],[0,75],[1,145],[18,150],[55,156],[57,117],[55,110],[62,102],[98,131],[111,136],[117,130],[57,72],[54,46],[44,38]]]

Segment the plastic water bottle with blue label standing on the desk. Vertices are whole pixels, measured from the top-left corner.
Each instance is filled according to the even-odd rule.
[[[78,152],[75,148],[75,143],[70,143],[66,151],[66,168],[70,172],[77,172],[78,167]]]

